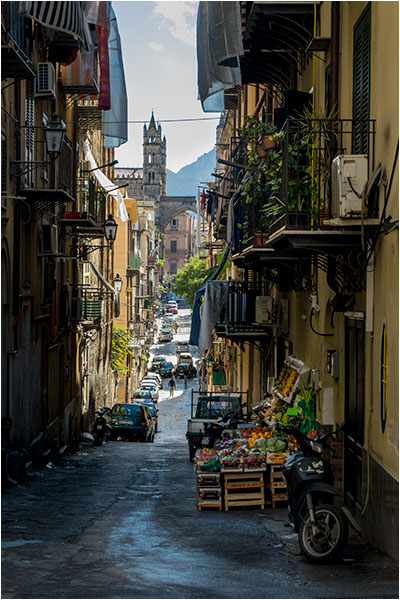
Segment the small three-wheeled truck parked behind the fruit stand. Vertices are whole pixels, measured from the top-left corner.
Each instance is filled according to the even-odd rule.
[[[196,450],[207,445],[204,423],[220,423],[223,419],[243,418],[247,411],[247,392],[200,392],[192,390],[191,418],[187,423],[186,438],[189,459]]]

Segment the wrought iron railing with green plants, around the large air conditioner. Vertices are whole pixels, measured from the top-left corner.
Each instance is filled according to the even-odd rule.
[[[374,120],[287,120],[276,146],[260,159],[258,176],[248,170],[242,182],[242,189],[247,185],[247,194],[243,193],[234,206],[237,250],[265,245],[281,228],[322,227],[332,216],[332,161],[351,155],[360,140],[370,175],[375,162]],[[250,192],[246,181],[250,181]],[[376,212],[377,199],[372,198],[368,217],[376,217]]]

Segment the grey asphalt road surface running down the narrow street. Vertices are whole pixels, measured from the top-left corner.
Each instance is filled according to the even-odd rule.
[[[175,361],[187,315],[153,354]],[[285,509],[197,510],[192,386],[169,399],[165,380],[154,444],[82,450],[4,490],[2,598],[398,598],[396,565],[356,538],[343,561],[314,566]]]

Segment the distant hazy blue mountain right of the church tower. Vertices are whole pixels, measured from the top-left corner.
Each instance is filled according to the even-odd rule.
[[[215,169],[215,147],[177,173],[167,169],[167,196],[196,196],[201,181],[210,181]]]

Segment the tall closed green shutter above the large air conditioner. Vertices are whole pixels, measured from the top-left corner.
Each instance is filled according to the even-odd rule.
[[[369,88],[371,63],[371,7],[354,26],[353,49],[353,153],[368,153]]]

